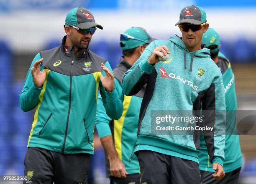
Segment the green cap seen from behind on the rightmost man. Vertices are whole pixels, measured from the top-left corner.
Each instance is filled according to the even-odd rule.
[[[217,45],[216,48],[210,49],[210,52],[217,52],[220,49],[220,37],[218,32],[209,27],[208,30],[203,33],[202,43],[209,47],[210,45]]]

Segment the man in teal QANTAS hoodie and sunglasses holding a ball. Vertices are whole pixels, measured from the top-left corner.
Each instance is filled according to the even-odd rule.
[[[135,146],[141,183],[201,184],[200,133],[205,134],[216,171],[213,177],[221,179],[225,174],[225,94],[220,70],[209,50],[201,49],[202,35],[209,27],[205,10],[184,7],[176,25],[182,38],[172,35],[151,42],[122,80],[123,93],[128,96],[147,85]],[[170,123],[168,117],[181,121]],[[182,120],[187,117],[191,121]],[[199,131],[198,119],[202,119],[204,132]]]

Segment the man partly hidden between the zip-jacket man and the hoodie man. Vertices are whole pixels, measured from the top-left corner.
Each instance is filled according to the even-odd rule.
[[[155,40],[142,27],[131,27],[120,35],[123,56],[113,70],[116,89],[123,101],[123,114],[118,120],[109,117],[99,95],[95,124],[105,149],[106,175],[110,184],[139,184],[139,164],[133,149],[137,139],[138,118],[145,87],[134,94],[123,94],[121,82],[125,72],[138,60],[146,46]]]

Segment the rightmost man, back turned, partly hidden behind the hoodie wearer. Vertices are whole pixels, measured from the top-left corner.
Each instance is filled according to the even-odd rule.
[[[209,28],[203,34],[202,43],[210,49],[211,58],[220,69],[223,77],[226,103],[225,162],[223,164],[225,177],[220,181],[212,177],[215,171],[212,169],[212,164],[209,162],[205,141],[203,137],[200,137],[199,166],[202,184],[237,184],[242,167],[242,153],[239,135],[230,135],[231,131],[236,129],[237,101],[235,76],[229,60],[220,52],[220,37],[213,28]]]

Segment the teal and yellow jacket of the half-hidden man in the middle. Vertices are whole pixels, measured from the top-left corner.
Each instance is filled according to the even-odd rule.
[[[133,151],[137,139],[139,112],[145,87],[142,87],[142,89],[133,96],[123,94],[121,87],[122,77],[129,68],[131,68],[131,65],[124,60],[124,57],[121,57],[118,66],[113,70],[115,81],[118,84],[116,89],[120,99],[123,100],[122,116],[118,120],[110,118],[105,113],[102,98],[99,95],[95,125],[100,138],[107,135],[113,136],[115,150],[118,154],[118,158],[125,165],[126,172],[128,174],[136,174],[139,173],[139,164]],[[106,175],[110,177],[110,166],[106,154],[105,162]]]

